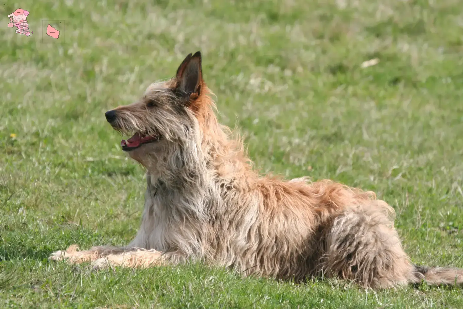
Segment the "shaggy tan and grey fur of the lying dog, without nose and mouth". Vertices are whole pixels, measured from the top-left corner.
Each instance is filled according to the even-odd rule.
[[[247,275],[340,277],[371,288],[463,282],[460,269],[412,265],[394,229],[394,209],[373,192],[259,176],[214,108],[199,52],[172,80],[117,107],[116,130],[161,136],[129,152],[146,168],[138,234],[126,247],[72,247],[50,258],[97,267],[200,260]]]

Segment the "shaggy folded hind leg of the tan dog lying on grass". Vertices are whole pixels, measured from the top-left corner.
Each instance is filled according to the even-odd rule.
[[[413,265],[393,222],[394,209],[383,201],[346,208],[325,234],[325,276],[375,289],[407,284]]]

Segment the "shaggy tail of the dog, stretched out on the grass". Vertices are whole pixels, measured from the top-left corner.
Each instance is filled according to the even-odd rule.
[[[451,267],[425,267],[413,265],[410,283],[463,284],[463,269]]]

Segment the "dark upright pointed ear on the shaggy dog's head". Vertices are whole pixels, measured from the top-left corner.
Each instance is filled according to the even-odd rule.
[[[177,69],[178,93],[186,94],[188,98],[194,94],[198,97],[201,91],[202,70],[201,70],[201,52],[197,51],[192,56],[191,53],[183,60]]]

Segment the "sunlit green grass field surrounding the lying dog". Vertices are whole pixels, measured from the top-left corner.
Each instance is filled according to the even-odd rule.
[[[374,292],[201,265],[92,271],[47,260],[73,243],[134,237],[144,173],[104,112],[201,50],[220,119],[241,128],[257,168],[374,190],[396,210],[414,263],[463,267],[460,1],[8,6],[30,12],[34,34],[15,34],[2,15],[0,308],[463,308],[461,287]],[[62,44],[41,43],[42,19],[65,20]]]

